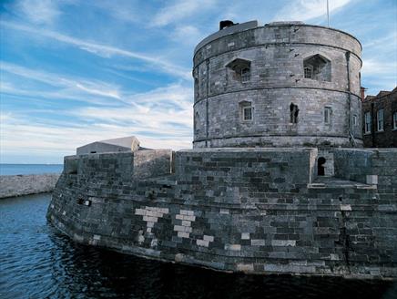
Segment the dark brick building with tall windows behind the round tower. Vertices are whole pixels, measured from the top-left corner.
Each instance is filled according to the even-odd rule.
[[[366,148],[397,148],[397,88],[362,101],[362,132]]]

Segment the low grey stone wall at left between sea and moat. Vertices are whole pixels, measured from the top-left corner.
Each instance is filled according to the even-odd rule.
[[[51,192],[59,174],[26,174],[0,176],[0,199],[5,197]]]

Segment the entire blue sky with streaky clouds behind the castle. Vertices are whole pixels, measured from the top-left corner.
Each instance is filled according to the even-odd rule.
[[[330,0],[331,26],[363,46],[369,94],[397,81],[397,1]],[[194,46],[219,20],[326,26],[326,0],[20,0],[0,3],[0,162],[61,163],[135,135],[191,148]]]

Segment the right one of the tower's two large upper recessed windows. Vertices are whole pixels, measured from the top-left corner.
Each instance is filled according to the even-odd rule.
[[[319,54],[303,60],[304,77],[331,82],[331,61]]]

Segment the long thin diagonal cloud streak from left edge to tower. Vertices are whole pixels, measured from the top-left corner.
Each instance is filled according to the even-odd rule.
[[[121,57],[129,57],[138,59],[149,64],[155,65],[157,69],[171,75],[177,76],[183,79],[190,79],[190,71],[184,67],[179,67],[177,65],[171,64],[165,59],[161,57],[150,57],[148,55],[144,55],[137,52],[128,51],[125,49],[121,49],[115,46],[107,46],[102,44],[97,44],[94,42],[87,42],[82,39],[78,39],[72,36],[66,36],[60,34],[56,31],[44,30],[44,29],[36,29],[31,26],[18,25],[10,22],[0,22],[1,26],[7,26],[14,30],[24,31],[26,33],[45,36],[47,38],[54,39],[58,42],[62,42],[71,46],[76,46],[82,50],[85,50],[89,53],[93,53],[100,57],[113,57],[113,56],[121,56]]]

